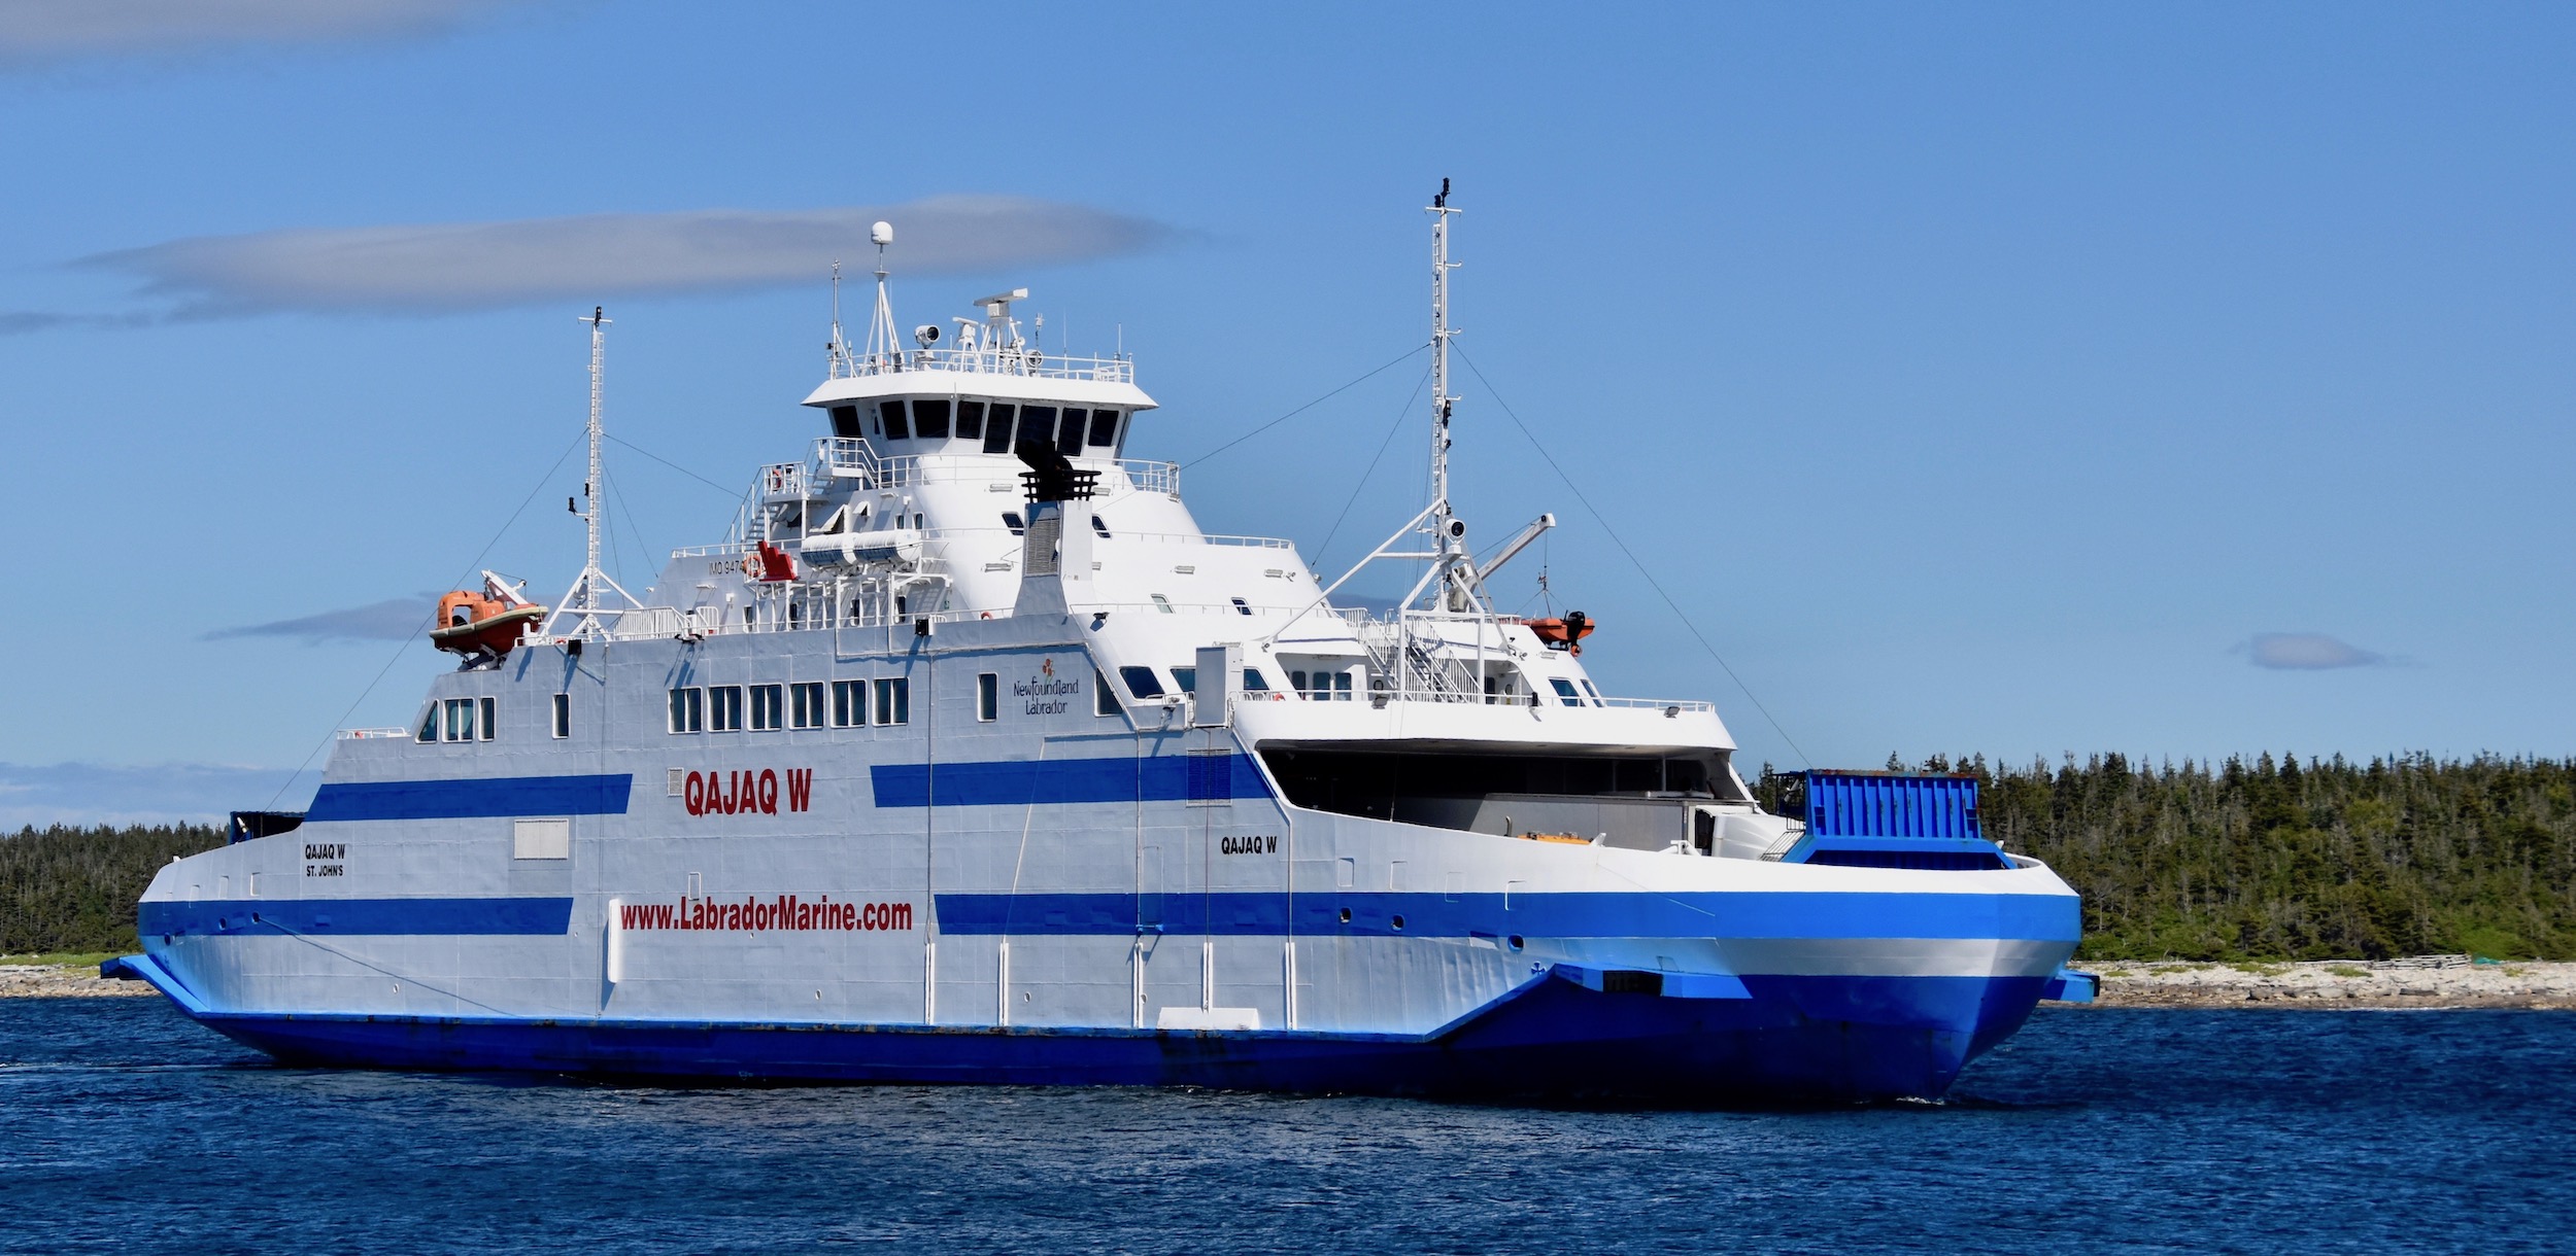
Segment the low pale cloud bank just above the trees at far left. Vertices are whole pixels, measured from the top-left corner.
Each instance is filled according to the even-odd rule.
[[[219,821],[227,811],[301,808],[312,772],[234,764],[5,764],[0,762],[0,831],[46,824],[180,824]]]

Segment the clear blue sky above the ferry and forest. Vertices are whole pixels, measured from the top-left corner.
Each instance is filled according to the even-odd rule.
[[[2540,5],[5,5],[0,824],[265,803],[446,667],[404,600],[487,543],[559,589],[598,301],[616,566],[721,538],[878,214],[902,319],[1025,283],[1208,530],[1355,559],[1419,358],[1198,458],[1425,337],[1440,178],[1461,510],[1558,512],[1504,602],[1546,559],[1605,687],[1780,764],[2571,754],[2571,54]]]

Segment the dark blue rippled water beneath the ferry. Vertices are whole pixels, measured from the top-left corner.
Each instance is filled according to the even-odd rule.
[[[1945,1104],[270,1068],[0,999],[0,1251],[2571,1251],[2576,1014],[2048,1009]]]

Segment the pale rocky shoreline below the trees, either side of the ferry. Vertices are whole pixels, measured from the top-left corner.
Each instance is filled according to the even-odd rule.
[[[2372,968],[2324,963],[2076,963],[2102,975],[2092,1006],[2537,1006],[2576,1009],[2576,963]],[[0,999],[116,999],[155,993],[93,965],[0,963]]]

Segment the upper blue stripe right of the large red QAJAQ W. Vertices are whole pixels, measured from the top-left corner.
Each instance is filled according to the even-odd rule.
[[[1172,803],[1270,798],[1249,754],[994,759],[868,767],[876,806]]]

